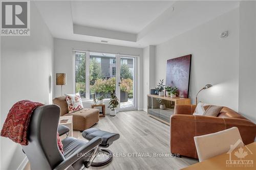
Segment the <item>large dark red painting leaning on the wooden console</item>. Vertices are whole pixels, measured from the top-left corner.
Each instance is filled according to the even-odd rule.
[[[166,86],[178,88],[181,98],[188,98],[191,54],[167,60]]]

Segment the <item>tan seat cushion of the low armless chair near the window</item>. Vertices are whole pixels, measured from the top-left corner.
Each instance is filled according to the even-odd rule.
[[[99,122],[99,110],[84,108],[82,110],[67,113],[64,116],[73,115],[73,129],[83,131]]]

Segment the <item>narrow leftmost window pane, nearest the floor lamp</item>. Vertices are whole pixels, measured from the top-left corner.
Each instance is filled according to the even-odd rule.
[[[75,88],[86,98],[86,53],[75,52]]]

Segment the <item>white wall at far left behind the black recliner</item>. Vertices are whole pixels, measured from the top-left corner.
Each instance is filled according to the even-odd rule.
[[[30,36],[1,37],[1,129],[17,101],[51,102],[53,38],[33,2],[30,22]],[[19,144],[1,137],[0,169],[17,169],[24,159]]]

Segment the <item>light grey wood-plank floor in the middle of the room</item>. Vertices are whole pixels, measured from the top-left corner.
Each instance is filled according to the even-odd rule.
[[[114,154],[126,156],[114,157],[110,164],[90,169],[180,169],[198,162],[187,157],[154,157],[154,153],[170,153],[170,127],[147,116],[144,111],[124,111],[116,116],[108,114],[93,127],[119,133],[120,138],[109,149]],[[74,131],[73,136],[84,140],[79,131]],[[143,153],[144,157],[139,155]]]

